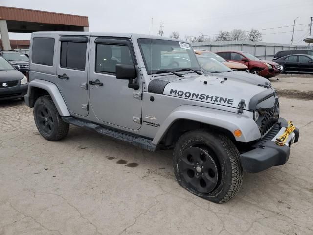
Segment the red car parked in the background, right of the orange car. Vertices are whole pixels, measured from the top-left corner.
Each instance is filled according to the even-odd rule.
[[[215,52],[227,61],[235,61],[245,64],[250,73],[260,75],[265,78],[277,76],[283,67],[270,60],[260,60],[259,58],[243,51],[220,51]]]

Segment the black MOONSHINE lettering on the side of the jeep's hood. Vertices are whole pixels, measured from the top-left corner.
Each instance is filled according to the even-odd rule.
[[[199,99],[199,100],[205,100],[210,101],[213,103],[221,103],[221,104],[229,104],[233,105],[234,100],[214,95],[208,95],[208,94],[200,94],[200,93],[194,93],[194,92],[184,92],[184,91],[178,91],[171,89],[170,90],[171,95],[177,95],[179,97],[183,98],[192,98],[192,99]]]

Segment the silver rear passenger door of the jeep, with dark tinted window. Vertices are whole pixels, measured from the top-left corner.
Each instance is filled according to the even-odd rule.
[[[61,36],[58,51],[57,86],[69,111],[87,116],[89,37]]]

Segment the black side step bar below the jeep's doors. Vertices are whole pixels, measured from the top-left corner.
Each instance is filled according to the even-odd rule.
[[[63,121],[65,121],[69,124],[83,127],[85,129],[89,129],[89,130],[94,130],[94,131],[100,133],[101,135],[110,136],[112,138],[115,138],[115,139],[118,139],[121,141],[126,141],[130,144],[137,146],[137,147],[140,147],[140,148],[152,151],[152,152],[156,151],[157,146],[155,144],[153,144],[151,140],[141,138],[141,137],[130,136],[127,134],[116,132],[116,131],[112,131],[112,130],[106,129],[102,126],[99,126],[97,124],[81,121],[81,120],[75,119],[73,117],[62,117],[62,119],[63,119]]]

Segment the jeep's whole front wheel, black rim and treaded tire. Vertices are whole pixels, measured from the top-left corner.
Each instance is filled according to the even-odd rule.
[[[238,149],[221,133],[201,129],[183,134],[174,149],[173,166],[183,188],[212,202],[227,202],[242,184]]]

